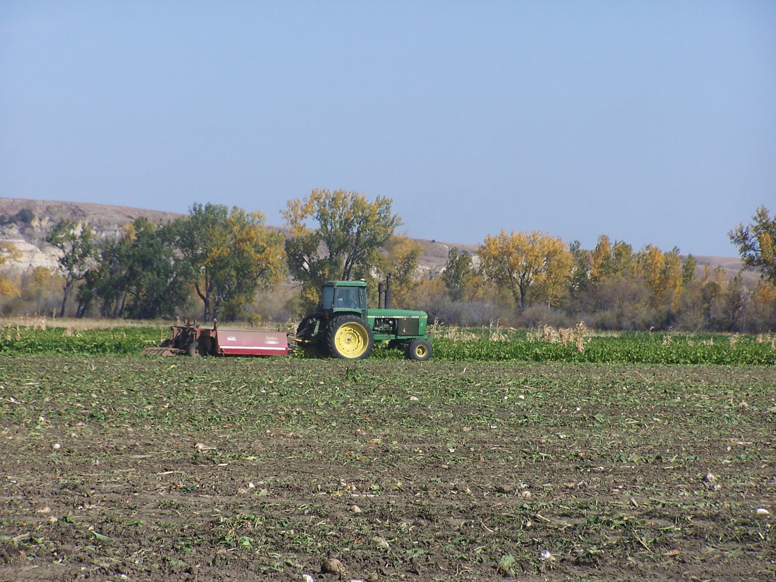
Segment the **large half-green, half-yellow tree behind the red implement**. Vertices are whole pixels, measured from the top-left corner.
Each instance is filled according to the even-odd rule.
[[[254,303],[259,290],[273,289],[282,279],[283,237],[265,227],[260,212],[195,203],[176,229],[206,321],[219,317],[225,307],[235,317],[245,304]]]

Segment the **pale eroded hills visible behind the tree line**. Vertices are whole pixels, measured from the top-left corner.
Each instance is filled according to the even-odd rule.
[[[25,222],[19,219],[29,217],[32,220]],[[63,218],[74,223],[83,222],[95,230],[98,237],[115,237],[121,233],[121,228],[136,218],[146,217],[154,222],[167,222],[183,217],[185,214],[162,212],[161,210],[147,210],[130,206],[113,206],[112,204],[95,204],[81,202],[59,202],[53,200],[29,200],[23,198],[0,198],[0,217],[4,222],[0,226],[0,240],[16,244],[23,256],[16,262],[22,268],[29,266],[55,267],[57,265],[57,251],[47,244],[46,235]],[[285,227],[272,227],[285,231]],[[461,251],[467,251],[474,255],[476,244],[458,244],[435,240],[416,239],[424,246],[423,255],[419,260],[421,270],[424,273],[435,275],[442,271],[447,262],[447,254],[450,248],[458,247]],[[702,265],[709,264],[712,268],[722,266],[729,277],[736,276],[743,265],[739,258],[697,256],[698,273],[702,274]],[[759,275],[753,272],[744,272],[748,281],[753,281]]]

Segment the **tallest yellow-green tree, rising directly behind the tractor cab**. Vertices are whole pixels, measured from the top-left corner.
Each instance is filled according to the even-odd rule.
[[[289,272],[303,285],[304,308],[314,306],[328,280],[370,279],[380,264],[380,248],[401,220],[390,198],[370,202],[359,192],[315,189],[289,200],[281,212],[291,229],[286,239]],[[312,228],[312,222],[317,228]]]

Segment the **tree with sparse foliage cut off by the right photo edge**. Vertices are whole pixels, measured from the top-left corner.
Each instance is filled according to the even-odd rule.
[[[752,223],[739,224],[728,237],[738,247],[744,268],[760,271],[763,279],[776,284],[776,214],[771,218],[760,206]]]

